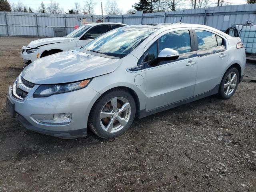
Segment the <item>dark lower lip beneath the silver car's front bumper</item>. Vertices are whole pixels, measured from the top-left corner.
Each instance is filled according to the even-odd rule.
[[[87,136],[87,128],[78,129],[78,130],[70,130],[70,131],[52,131],[52,130],[45,130],[40,129],[36,126],[33,126],[30,122],[28,122],[23,116],[18,114],[18,120],[21,124],[26,127],[26,129],[38,132],[45,135],[50,135],[62,139],[74,139],[78,137],[86,137]]]

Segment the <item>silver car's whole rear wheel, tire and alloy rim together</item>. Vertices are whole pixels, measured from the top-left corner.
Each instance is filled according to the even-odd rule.
[[[238,70],[234,67],[228,69],[220,82],[220,97],[222,99],[229,99],[236,92],[239,80]]]

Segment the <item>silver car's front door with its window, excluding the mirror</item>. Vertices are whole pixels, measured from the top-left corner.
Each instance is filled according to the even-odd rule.
[[[179,52],[176,60],[158,60],[164,48]],[[197,54],[192,30],[166,32],[144,53],[146,110],[185,100],[194,95]]]

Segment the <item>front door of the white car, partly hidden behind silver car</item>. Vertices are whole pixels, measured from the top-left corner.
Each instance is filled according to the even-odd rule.
[[[109,25],[108,24],[94,26],[94,27],[90,28],[90,30],[88,30],[85,33],[85,34],[91,34],[92,39],[84,39],[84,36],[82,36],[77,41],[76,47],[79,48],[81,46],[84,46],[84,45],[88,44],[90,41],[92,41],[93,39],[97,38],[98,36],[108,32],[108,31],[109,31]]]

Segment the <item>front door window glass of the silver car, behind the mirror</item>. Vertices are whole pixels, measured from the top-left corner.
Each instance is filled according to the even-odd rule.
[[[171,48],[179,54],[190,52],[190,34],[188,30],[175,31],[165,34],[158,40],[158,53],[164,48]]]

